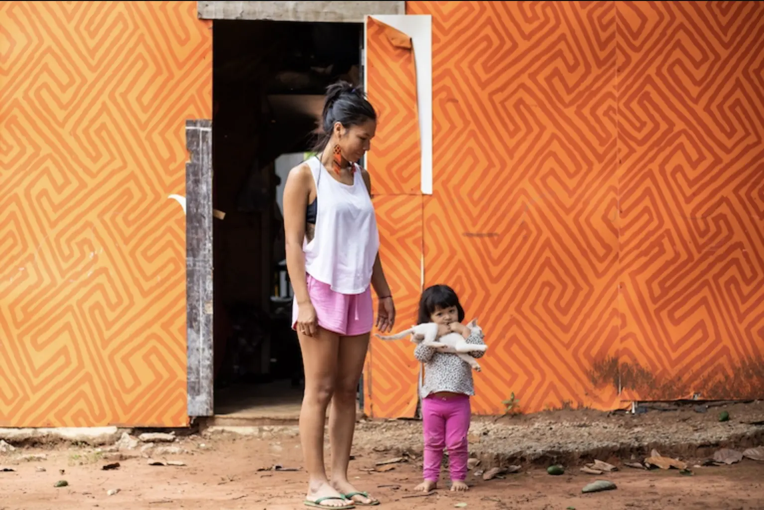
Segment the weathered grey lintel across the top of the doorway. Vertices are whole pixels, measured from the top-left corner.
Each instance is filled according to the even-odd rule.
[[[367,15],[405,15],[406,2],[196,2],[199,19],[363,23]]]

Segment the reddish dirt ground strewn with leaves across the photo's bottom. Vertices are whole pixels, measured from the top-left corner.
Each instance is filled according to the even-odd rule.
[[[448,471],[444,468],[445,483],[442,482],[438,491],[426,497],[411,497],[415,495],[413,486],[420,481],[421,462],[416,448],[421,441],[421,424],[407,421],[362,423],[358,427],[354,460],[351,461],[351,481],[358,489],[367,490],[380,499],[383,503],[380,508],[390,510],[413,506],[420,510],[764,508],[764,463],[745,459],[733,466],[699,466],[708,453],[717,449],[719,444],[732,441],[730,437],[734,437],[743,427],[760,428],[749,422],[762,420],[761,408],[731,407],[730,410],[730,415],[738,419],[724,424],[718,423],[715,410],[704,414],[651,411],[641,416],[607,418],[602,414],[578,412],[571,413],[568,418],[537,415],[506,423],[477,419],[471,431],[473,453],[490,452],[499,444],[506,447],[507,442],[519,441],[517,438],[523,437],[526,443],[515,448],[518,452],[516,457],[523,465],[522,470],[490,481],[484,481],[473,472],[468,478],[471,490],[465,494],[455,494],[448,491]],[[610,436],[607,436],[608,431]],[[575,439],[575,434],[578,434],[578,439]],[[564,475],[550,476],[544,469],[545,464],[565,458],[564,451],[560,450],[563,443],[570,443],[571,447],[590,447],[595,452],[600,448],[599,451],[607,455],[607,451],[611,454],[613,451],[626,452],[630,448],[637,451],[637,443],[642,441],[643,449],[665,447],[666,450],[661,453],[666,454],[671,449],[671,441],[662,444],[651,434],[658,437],[678,434],[669,437],[677,445],[677,441],[695,441],[694,447],[685,445],[686,454],[682,456],[691,466],[691,476],[682,475],[678,470],[634,470],[621,463],[630,458],[612,455],[601,460],[616,464],[619,467],[616,473],[598,476],[581,473],[581,463],[571,460],[569,456],[567,463],[564,462]],[[694,434],[694,439],[682,434]],[[734,441],[742,441],[743,447],[761,446],[746,444],[758,441],[756,435],[747,437],[743,440],[738,437]],[[625,450],[623,445],[618,446],[619,441],[626,441]],[[629,441],[637,442],[629,446]],[[603,444],[610,444],[611,450]],[[109,448],[59,444],[18,447],[5,454],[0,453],[0,510],[305,508],[302,502],[306,474],[301,467],[299,438],[293,429],[278,434],[267,429],[260,437],[234,434],[178,437],[173,444],[157,444],[155,448],[169,448],[163,453],[156,449],[141,451],[142,447],[143,444],[138,444],[133,449],[113,453],[105,451]],[[375,471],[378,462],[390,460],[406,450],[413,453],[404,455],[403,462],[390,464],[393,469]],[[154,460],[180,461],[185,465],[150,466],[149,456]],[[485,469],[491,463],[490,459],[495,460],[495,457],[488,455],[476,470]],[[526,461],[523,462],[523,459]],[[104,466],[115,462],[119,463],[117,469],[103,470]],[[274,465],[297,471],[261,470]],[[12,471],[2,472],[2,467]],[[613,481],[617,489],[582,494],[581,488],[596,479]],[[68,486],[55,488],[59,480],[66,480]],[[116,494],[108,495],[115,489],[118,489]]]

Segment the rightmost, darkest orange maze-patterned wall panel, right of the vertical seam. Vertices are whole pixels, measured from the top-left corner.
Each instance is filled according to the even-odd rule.
[[[617,3],[624,395],[760,399],[764,5]]]

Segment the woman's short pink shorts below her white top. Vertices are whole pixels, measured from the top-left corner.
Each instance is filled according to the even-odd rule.
[[[343,337],[354,337],[371,331],[374,326],[374,307],[371,286],[361,294],[341,294],[324,282],[307,275],[308,295],[319,326]],[[292,329],[297,328],[297,301],[292,304]]]

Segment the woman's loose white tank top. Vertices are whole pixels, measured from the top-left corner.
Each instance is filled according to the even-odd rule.
[[[361,294],[371,283],[380,247],[374,205],[356,165],[348,186],[329,175],[321,160],[306,161],[316,182],[316,231],[303,240],[305,270],[342,294]]]

